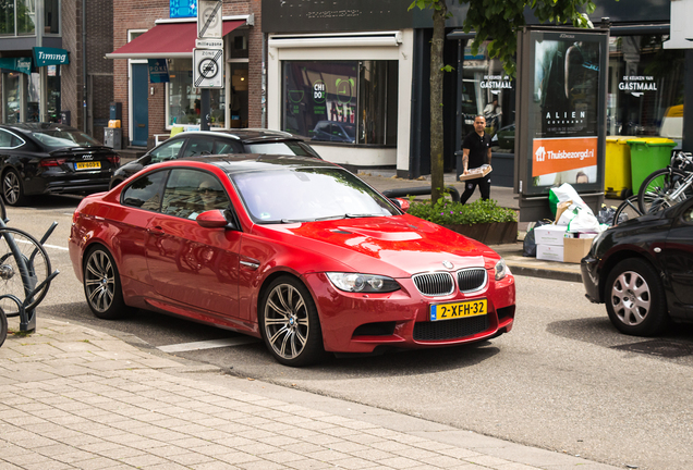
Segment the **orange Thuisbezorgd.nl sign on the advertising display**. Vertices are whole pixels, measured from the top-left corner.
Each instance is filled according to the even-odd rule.
[[[596,165],[597,145],[597,137],[534,139],[532,176]]]

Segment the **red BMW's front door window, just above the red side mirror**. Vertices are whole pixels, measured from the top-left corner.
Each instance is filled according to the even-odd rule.
[[[229,197],[216,176],[197,170],[171,171],[161,212],[183,219],[195,219],[200,213],[229,207]]]

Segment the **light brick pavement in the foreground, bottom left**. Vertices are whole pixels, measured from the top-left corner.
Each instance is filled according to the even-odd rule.
[[[355,419],[339,410],[369,407],[247,383],[39,317],[0,347],[0,469],[615,468],[384,410]]]

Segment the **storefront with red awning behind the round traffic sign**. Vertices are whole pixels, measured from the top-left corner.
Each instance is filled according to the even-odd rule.
[[[129,28],[127,42],[106,54],[108,59],[127,59],[129,94],[123,120],[133,146],[146,146],[151,135],[168,134],[173,127],[198,129],[200,125],[200,88],[193,83],[197,22],[190,16],[193,10],[181,12],[173,9],[173,2],[171,5],[170,18],[154,21],[149,29]],[[177,17],[179,13],[183,17]],[[248,126],[248,41],[253,25],[253,14],[223,16],[224,87],[210,92],[212,129]],[[168,72],[163,78],[154,78],[156,67]],[[162,100],[155,98],[158,88],[154,84],[159,83],[163,84]],[[158,108],[161,101],[163,110]]]

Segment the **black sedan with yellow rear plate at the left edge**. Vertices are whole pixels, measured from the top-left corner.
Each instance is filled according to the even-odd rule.
[[[0,125],[2,197],[10,206],[21,206],[31,195],[106,190],[119,165],[118,153],[76,128]]]

